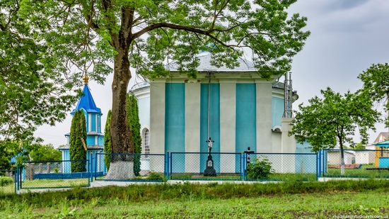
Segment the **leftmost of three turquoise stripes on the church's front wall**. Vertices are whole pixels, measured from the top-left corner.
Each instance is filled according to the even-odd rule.
[[[185,84],[166,84],[165,152],[185,152]],[[185,156],[173,161],[173,172],[185,172]]]

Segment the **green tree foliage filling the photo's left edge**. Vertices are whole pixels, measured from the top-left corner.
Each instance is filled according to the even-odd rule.
[[[39,143],[36,127],[64,120],[76,101],[71,77],[49,55],[47,41],[37,40],[22,8],[22,1],[0,1],[0,147],[12,156]]]

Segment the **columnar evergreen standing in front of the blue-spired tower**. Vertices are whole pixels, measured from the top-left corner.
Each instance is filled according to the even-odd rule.
[[[74,113],[70,128],[70,159],[86,159],[86,119],[82,110]],[[86,172],[85,162],[71,162],[71,172]]]

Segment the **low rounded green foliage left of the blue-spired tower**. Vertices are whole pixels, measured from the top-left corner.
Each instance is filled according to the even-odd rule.
[[[33,161],[53,161],[61,160],[62,153],[53,145],[35,145],[30,151],[30,157]]]

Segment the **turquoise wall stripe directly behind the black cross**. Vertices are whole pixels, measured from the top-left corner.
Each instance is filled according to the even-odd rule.
[[[201,85],[200,97],[200,152],[208,152],[208,84]],[[214,140],[212,152],[220,152],[220,86],[211,84],[211,109],[210,109],[210,132],[209,135]],[[208,155],[200,156],[200,172],[206,169]],[[214,159],[214,169],[220,172],[220,155],[212,155]]]

